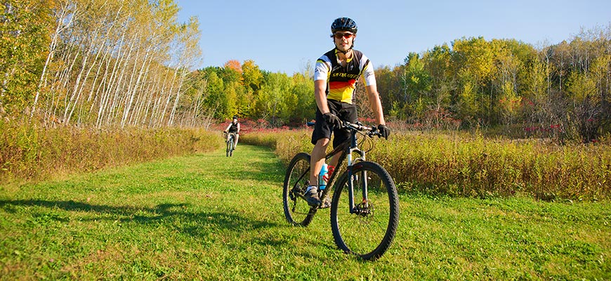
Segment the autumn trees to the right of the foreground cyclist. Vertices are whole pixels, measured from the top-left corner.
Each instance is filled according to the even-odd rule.
[[[496,126],[596,141],[611,131],[611,25],[534,48],[461,38],[376,70],[390,115],[426,126]]]

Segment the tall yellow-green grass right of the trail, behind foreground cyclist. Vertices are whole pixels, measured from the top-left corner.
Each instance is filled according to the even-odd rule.
[[[310,131],[256,132],[244,142],[271,143],[284,163],[311,152]],[[405,132],[374,141],[367,158],[382,164],[400,188],[434,194],[540,200],[611,198],[611,145],[556,145],[541,140],[484,138],[478,133]],[[365,145],[367,149],[367,145]]]

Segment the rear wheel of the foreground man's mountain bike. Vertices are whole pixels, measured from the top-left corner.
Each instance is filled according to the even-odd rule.
[[[308,226],[316,214],[301,196],[306,192],[310,180],[310,155],[301,152],[295,155],[284,176],[282,203],[284,216],[294,226]]]

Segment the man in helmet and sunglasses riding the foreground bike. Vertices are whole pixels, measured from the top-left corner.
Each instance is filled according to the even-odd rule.
[[[341,122],[357,122],[357,108],[354,105],[354,93],[357,79],[362,77],[369,106],[372,107],[378,130],[388,139],[390,129],[384,121],[382,104],[376,87],[374,66],[369,58],[353,49],[357,25],[350,18],[337,18],[331,24],[331,37],[335,48],[324,53],[317,61],[314,70],[314,96],[316,99],[316,123],[312,133],[314,149],[310,158],[310,186],[306,190],[306,200],[312,206],[320,205],[318,197],[317,175],[324,164],[327,145],[331,133],[335,134],[333,147],[341,145],[350,134],[341,129]],[[333,173],[338,153],[329,162],[329,176]],[[313,185],[314,184],[314,185]],[[325,200],[327,201],[327,200]]]

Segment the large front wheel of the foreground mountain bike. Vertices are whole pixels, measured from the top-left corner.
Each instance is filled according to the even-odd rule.
[[[331,230],[339,249],[365,260],[376,260],[390,247],[397,231],[397,189],[388,171],[379,164],[359,162],[352,171],[355,207],[350,210],[350,178],[346,171],[335,185]]]

